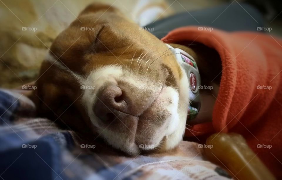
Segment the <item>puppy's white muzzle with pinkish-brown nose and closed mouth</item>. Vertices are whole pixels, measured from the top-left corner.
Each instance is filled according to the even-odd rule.
[[[95,90],[84,92],[88,116],[98,133],[127,154],[159,149],[178,126],[178,92],[160,81],[125,71],[117,76],[103,75],[100,86],[97,83]]]

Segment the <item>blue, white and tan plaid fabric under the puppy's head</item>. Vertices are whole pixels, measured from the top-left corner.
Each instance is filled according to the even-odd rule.
[[[169,153],[127,157],[99,138],[89,141],[36,117],[35,109],[26,96],[0,90],[1,179],[229,179],[203,159],[197,143],[182,141]]]

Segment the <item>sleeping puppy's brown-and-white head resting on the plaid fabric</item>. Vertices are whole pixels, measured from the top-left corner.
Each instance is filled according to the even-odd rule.
[[[52,109],[81,132],[86,124],[128,154],[182,140],[186,73],[162,41],[113,7],[88,6],[58,35],[36,84],[41,112]]]

